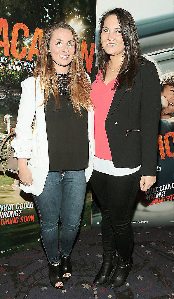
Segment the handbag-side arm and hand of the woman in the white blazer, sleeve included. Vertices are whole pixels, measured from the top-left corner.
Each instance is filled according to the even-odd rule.
[[[32,149],[31,124],[36,112],[35,79],[29,77],[21,83],[22,94],[15,128],[16,138],[11,141],[14,148],[14,157],[18,159],[19,179],[29,186],[32,183],[32,174],[27,167]]]

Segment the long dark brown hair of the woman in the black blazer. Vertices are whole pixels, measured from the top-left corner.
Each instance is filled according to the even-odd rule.
[[[125,51],[123,55],[123,62],[121,64],[118,76],[115,80],[113,89],[120,89],[123,84],[127,85],[127,91],[130,91],[134,83],[134,77],[138,72],[139,65],[144,65],[147,60],[141,57],[141,48],[138,39],[138,32],[135,25],[135,21],[131,14],[122,8],[115,8],[113,10],[106,11],[99,20],[100,35],[103,30],[104,21],[108,16],[116,15],[118,23],[120,25],[123,42],[125,45]],[[106,78],[106,62],[110,60],[109,54],[107,54],[102,47],[101,37],[98,45],[98,69],[101,69],[102,80]]]

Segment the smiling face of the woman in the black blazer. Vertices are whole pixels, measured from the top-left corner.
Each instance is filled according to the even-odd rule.
[[[101,32],[101,44],[103,50],[110,56],[123,56],[125,46],[116,15],[105,19]]]

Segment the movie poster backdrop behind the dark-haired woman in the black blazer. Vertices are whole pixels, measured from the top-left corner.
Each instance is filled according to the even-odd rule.
[[[173,1],[111,0],[108,4],[97,0],[95,52],[99,40],[98,20],[106,10],[115,7],[132,14],[142,54],[156,63],[159,77],[167,73],[168,78],[174,78]],[[171,84],[174,86],[174,80]],[[159,122],[157,181],[146,192],[139,191],[132,211],[133,226],[170,226],[174,222],[174,87],[168,87],[170,93],[161,94],[162,107],[169,114],[161,114]],[[100,205],[93,196],[92,227],[100,225]]]

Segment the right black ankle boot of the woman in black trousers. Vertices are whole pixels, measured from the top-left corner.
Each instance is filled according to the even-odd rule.
[[[129,275],[129,271],[132,267],[131,260],[122,260],[118,257],[117,266],[111,280],[109,281],[109,287],[112,289],[117,289],[126,282],[126,279]]]

